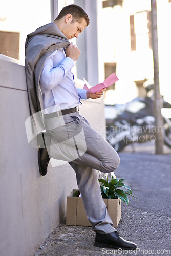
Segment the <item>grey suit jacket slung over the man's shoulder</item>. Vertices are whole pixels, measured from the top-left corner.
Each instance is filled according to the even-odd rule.
[[[46,24],[27,36],[25,69],[30,117],[27,118],[25,125],[27,139],[32,147],[42,146],[42,132],[45,131],[43,120],[44,104],[39,85],[45,60],[55,50],[65,48],[68,45],[68,39],[55,23]]]

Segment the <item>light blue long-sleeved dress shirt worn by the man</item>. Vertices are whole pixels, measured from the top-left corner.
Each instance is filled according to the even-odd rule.
[[[81,104],[80,99],[87,99],[87,91],[75,86],[73,66],[73,59],[66,57],[63,48],[46,59],[40,76],[45,113],[73,108]]]

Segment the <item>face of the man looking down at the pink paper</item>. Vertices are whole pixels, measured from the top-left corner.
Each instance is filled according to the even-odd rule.
[[[81,22],[72,22],[71,18],[67,20],[66,25],[62,30],[62,33],[67,37],[67,39],[72,39],[74,37],[77,38],[79,33],[81,33],[86,27],[87,23],[84,18],[81,19]]]

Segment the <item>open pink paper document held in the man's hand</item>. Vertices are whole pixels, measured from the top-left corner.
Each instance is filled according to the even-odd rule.
[[[110,76],[108,76],[103,83],[98,83],[96,84],[96,86],[90,86],[89,83],[86,81],[85,78],[83,78],[85,84],[83,89],[86,89],[88,92],[90,93],[96,93],[96,92],[100,92],[101,89],[111,86],[113,83],[115,83],[118,78],[115,75],[115,73],[112,73]]]

